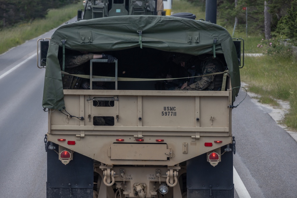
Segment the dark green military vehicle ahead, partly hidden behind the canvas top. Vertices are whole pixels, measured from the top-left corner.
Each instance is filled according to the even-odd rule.
[[[84,10],[78,10],[78,19],[166,14],[163,0],[86,0],[83,5]]]

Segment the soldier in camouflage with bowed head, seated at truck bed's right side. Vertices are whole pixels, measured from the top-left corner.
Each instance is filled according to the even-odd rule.
[[[191,56],[178,54],[173,57],[173,61],[181,64],[188,72],[189,81],[181,85],[181,88],[174,90],[185,91],[220,91],[222,87],[223,74],[208,75],[216,72],[223,72],[223,64],[218,58],[213,56]],[[202,77],[194,77],[202,76]]]

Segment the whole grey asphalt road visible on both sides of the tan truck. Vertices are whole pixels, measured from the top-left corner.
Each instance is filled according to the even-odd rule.
[[[38,38],[0,55],[1,198],[46,197],[45,69],[36,66]],[[244,96],[240,91],[235,104]],[[297,144],[268,115],[270,111],[249,96],[233,109],[234,167],[250,197],[297,197]],[[235,193],[235,197],[244,196]]]

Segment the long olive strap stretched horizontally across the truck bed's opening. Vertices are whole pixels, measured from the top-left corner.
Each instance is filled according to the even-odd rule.
[[[196,77],[203,77],[203,76],[212,76],[212,75],[218,75],[218,74],[225,74],[228,73],[229,70],[226,70],[224,72],[216,72],[212,74],[206,74],[206,75],[201,75],[201,76],[192,76],[192,77],[184,77],[184,78],[124,78],[124,77],[118,77],[118,81],[154,81],[154,80],[176,80],[176,79],[185,79],[185,78],[196,78]],[[90,78],[90,75],[79,75],[79,74],[69,74],[67,72],[61,71],[62,74],[67,74],[67,75],[72,75],[72,76],[77,76],[81,78]],[[114,78],[114,77],[108,77],[108,76],[94,76],[93,78]]]

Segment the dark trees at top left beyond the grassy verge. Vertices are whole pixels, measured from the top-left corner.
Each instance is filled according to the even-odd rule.
[[[50,8],[76,3],[79,0],[0,0],[0,28],[15,23],[44,18]]]

